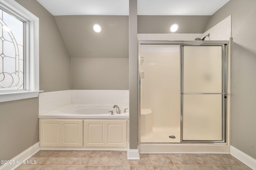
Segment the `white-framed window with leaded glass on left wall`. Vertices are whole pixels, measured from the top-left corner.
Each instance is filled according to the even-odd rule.
[[[39,19],[14,0],[0,1],[0,102],[38,97]]]

